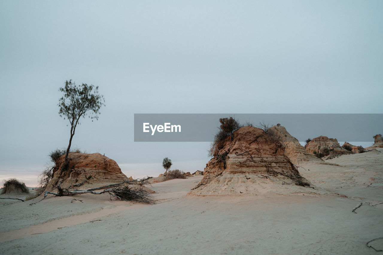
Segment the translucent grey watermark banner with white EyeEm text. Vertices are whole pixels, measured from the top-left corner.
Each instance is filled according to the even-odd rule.
[[[373,142],[382,133],[383,114],[218,114],[218,113],[136,113],[135,142],[211,142],[220,118],[233,117],[240,124],[265,123],[284,126],[298,141],[318,136],[338,141]]]

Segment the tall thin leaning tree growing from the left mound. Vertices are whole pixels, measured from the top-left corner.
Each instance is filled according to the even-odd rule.
[[[68,119],[70,123],[70,139],[65,154],[65,161],[60,170],[60,173],[62,173],[69,164],[68,154],[70,145],[72,144],[77,124],[80,124],[80,118],[88,116],[92,121],[93,119],[98,119],[101,106],[105,106],[105,99],[103,95],[98,93],[98,86],[94,87],[86,83],[76,86],[72,80],[65,81],[65,86],[59,88],[59,91],[64,93],[58,103],[60,107],[59,115],[64,117],[64,119]]]

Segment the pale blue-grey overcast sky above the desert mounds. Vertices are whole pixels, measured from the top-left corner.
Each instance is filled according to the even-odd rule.
[[[206,142],[134,142],[134,113],[382,113],[382,13],[381,0],[1,1],[0,179],[31,186],[67,146],[69,79],[106,104],[72,146],[133,177],[209,160]]]

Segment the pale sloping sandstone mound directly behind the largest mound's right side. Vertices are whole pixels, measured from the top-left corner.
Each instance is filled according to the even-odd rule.
[[[299,143],[298,139],[291,136],[286,128],[283,126],[270,127],[270,131],[273,135],[278,137],[278,140],[282,142],[285,147],[286,156],[295,165],[300,165],[303,162],[328,164],[321,159],[318,159],[314,155],[309,154],[304,147]]]

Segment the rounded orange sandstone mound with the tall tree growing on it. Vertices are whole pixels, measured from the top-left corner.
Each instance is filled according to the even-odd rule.
[[[46,190],[52,190],[53,184],[61,183],[62,188],[79,187],[79,189],[98,187],[128,180],[121,172],[115,160],[109,159],[99,153],[85,154],[70,152],[69,167],[61,176],[60,168],[64,163],[65,155],[57,159],[53,170],[53,178]],[[83,183],[82,185],[79,185]]]

